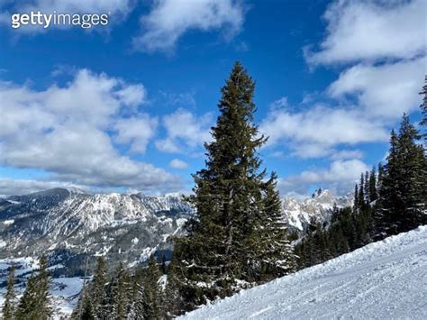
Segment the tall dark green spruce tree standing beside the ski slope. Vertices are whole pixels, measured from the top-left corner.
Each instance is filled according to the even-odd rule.
[[[236,62],[221,90],[213,142],[205,144],[205,169],[194,176],[195,195],[189,201],[197,214],[174,251],[178,284],[188,301],[186,309],[232,294],[238,287],[236,280],[250,285],[268,278],[262,272],[270,269],[260,258],[261,251],[268,249],[268,245],[259,245],[268,241],[263,228],[277,228],[271,245],[285,245],[283,226],[271,222],[277,219],[280,207],[275,204],[264,210],[265,170],[260,169],[258,151],[267,139],[253,123],[254,89],[254,81]],[[274,185],[274,178],[269,184]],[[287,260],[287,250],[275,250],[281,250],[275,253],[277,261]],[[271,272],[277,273],[277,266]]]

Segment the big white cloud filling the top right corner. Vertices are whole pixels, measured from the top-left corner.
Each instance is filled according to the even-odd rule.
[[[327,36],[311,64],[412,59],[425,51],[425,1],[339,0],[324,14]]]

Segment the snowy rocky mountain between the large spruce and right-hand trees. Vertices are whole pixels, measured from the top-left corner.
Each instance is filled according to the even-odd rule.
[[[290,232],[303,235],[310,224],[328,223],[333,206],[352,206],[353,195],[335,197],[330,190],[319,188],[312,197],[283,199],[283,212]]]

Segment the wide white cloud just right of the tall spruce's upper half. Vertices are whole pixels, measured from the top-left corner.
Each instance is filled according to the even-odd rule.
[[[315,105],[301,112],[274,109],[260,124],[268,145],[287,145],[301,158],[324,157],[334,147],[359,142],[382,142],[388,133],[382,123],[356,109]]]

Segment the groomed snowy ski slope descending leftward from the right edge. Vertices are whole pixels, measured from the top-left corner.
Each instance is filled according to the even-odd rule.
[[[195,310],[183,319],[427,319],[427,225]]]

